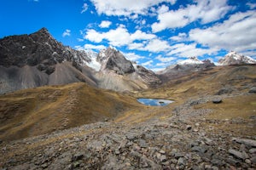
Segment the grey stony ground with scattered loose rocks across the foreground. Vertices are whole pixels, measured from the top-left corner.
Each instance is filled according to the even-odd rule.
[[[255,94],[246,94],[255,95]],[[222,99],[228,96],[222,96]],[[192,106],[215,96],[189,99],[168,118],[137,124],[98,122],[0,145],[2,169],[255,169],[256,137],[218,126],[249,121],[204,118]],[[216,104],[220,105],[220,104]],[[172,114],[171,114],[172,113]],[[249,129],[249,128],[248,128]]]

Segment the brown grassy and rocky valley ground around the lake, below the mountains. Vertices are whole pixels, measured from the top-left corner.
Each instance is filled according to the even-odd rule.
[[[0,161],[12,169],[254,168],[255,71],[215,67],[124,93],[79,82],[4,94],[1,112],[14,115],[1,119]]]

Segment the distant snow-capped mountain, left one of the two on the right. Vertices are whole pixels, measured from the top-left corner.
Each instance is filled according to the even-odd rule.
[[[196,57],[190,57],[176,65],[166,67],[164,71],[159,71],[157,74],[162,82],[168,82],[172,79],[184,77],[191,73],[191,71],[203,71],[214,67],[215,65],[209,60],[200,60]]]

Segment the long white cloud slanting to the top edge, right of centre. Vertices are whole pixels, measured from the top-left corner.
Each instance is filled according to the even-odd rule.
[[[230,10],[227,0],[201,0],[196,4],[188,5],[186,8],[166,11],[160,10],[159,22],[155,22],[151,28],[158,32],[168,28],[179,28],[187,26],[195,20],[201,20],[202,24],[219,20]]]

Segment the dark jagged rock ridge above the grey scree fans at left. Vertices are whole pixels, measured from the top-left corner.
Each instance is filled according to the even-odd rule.
[[[63,61],[75,62],[76,65],[90,61],[88,56],[57,42],[46,28],[21,36],[4,37],[0,40],[0,65],[35,66],[39,71],[51,74],[55,64]]]

